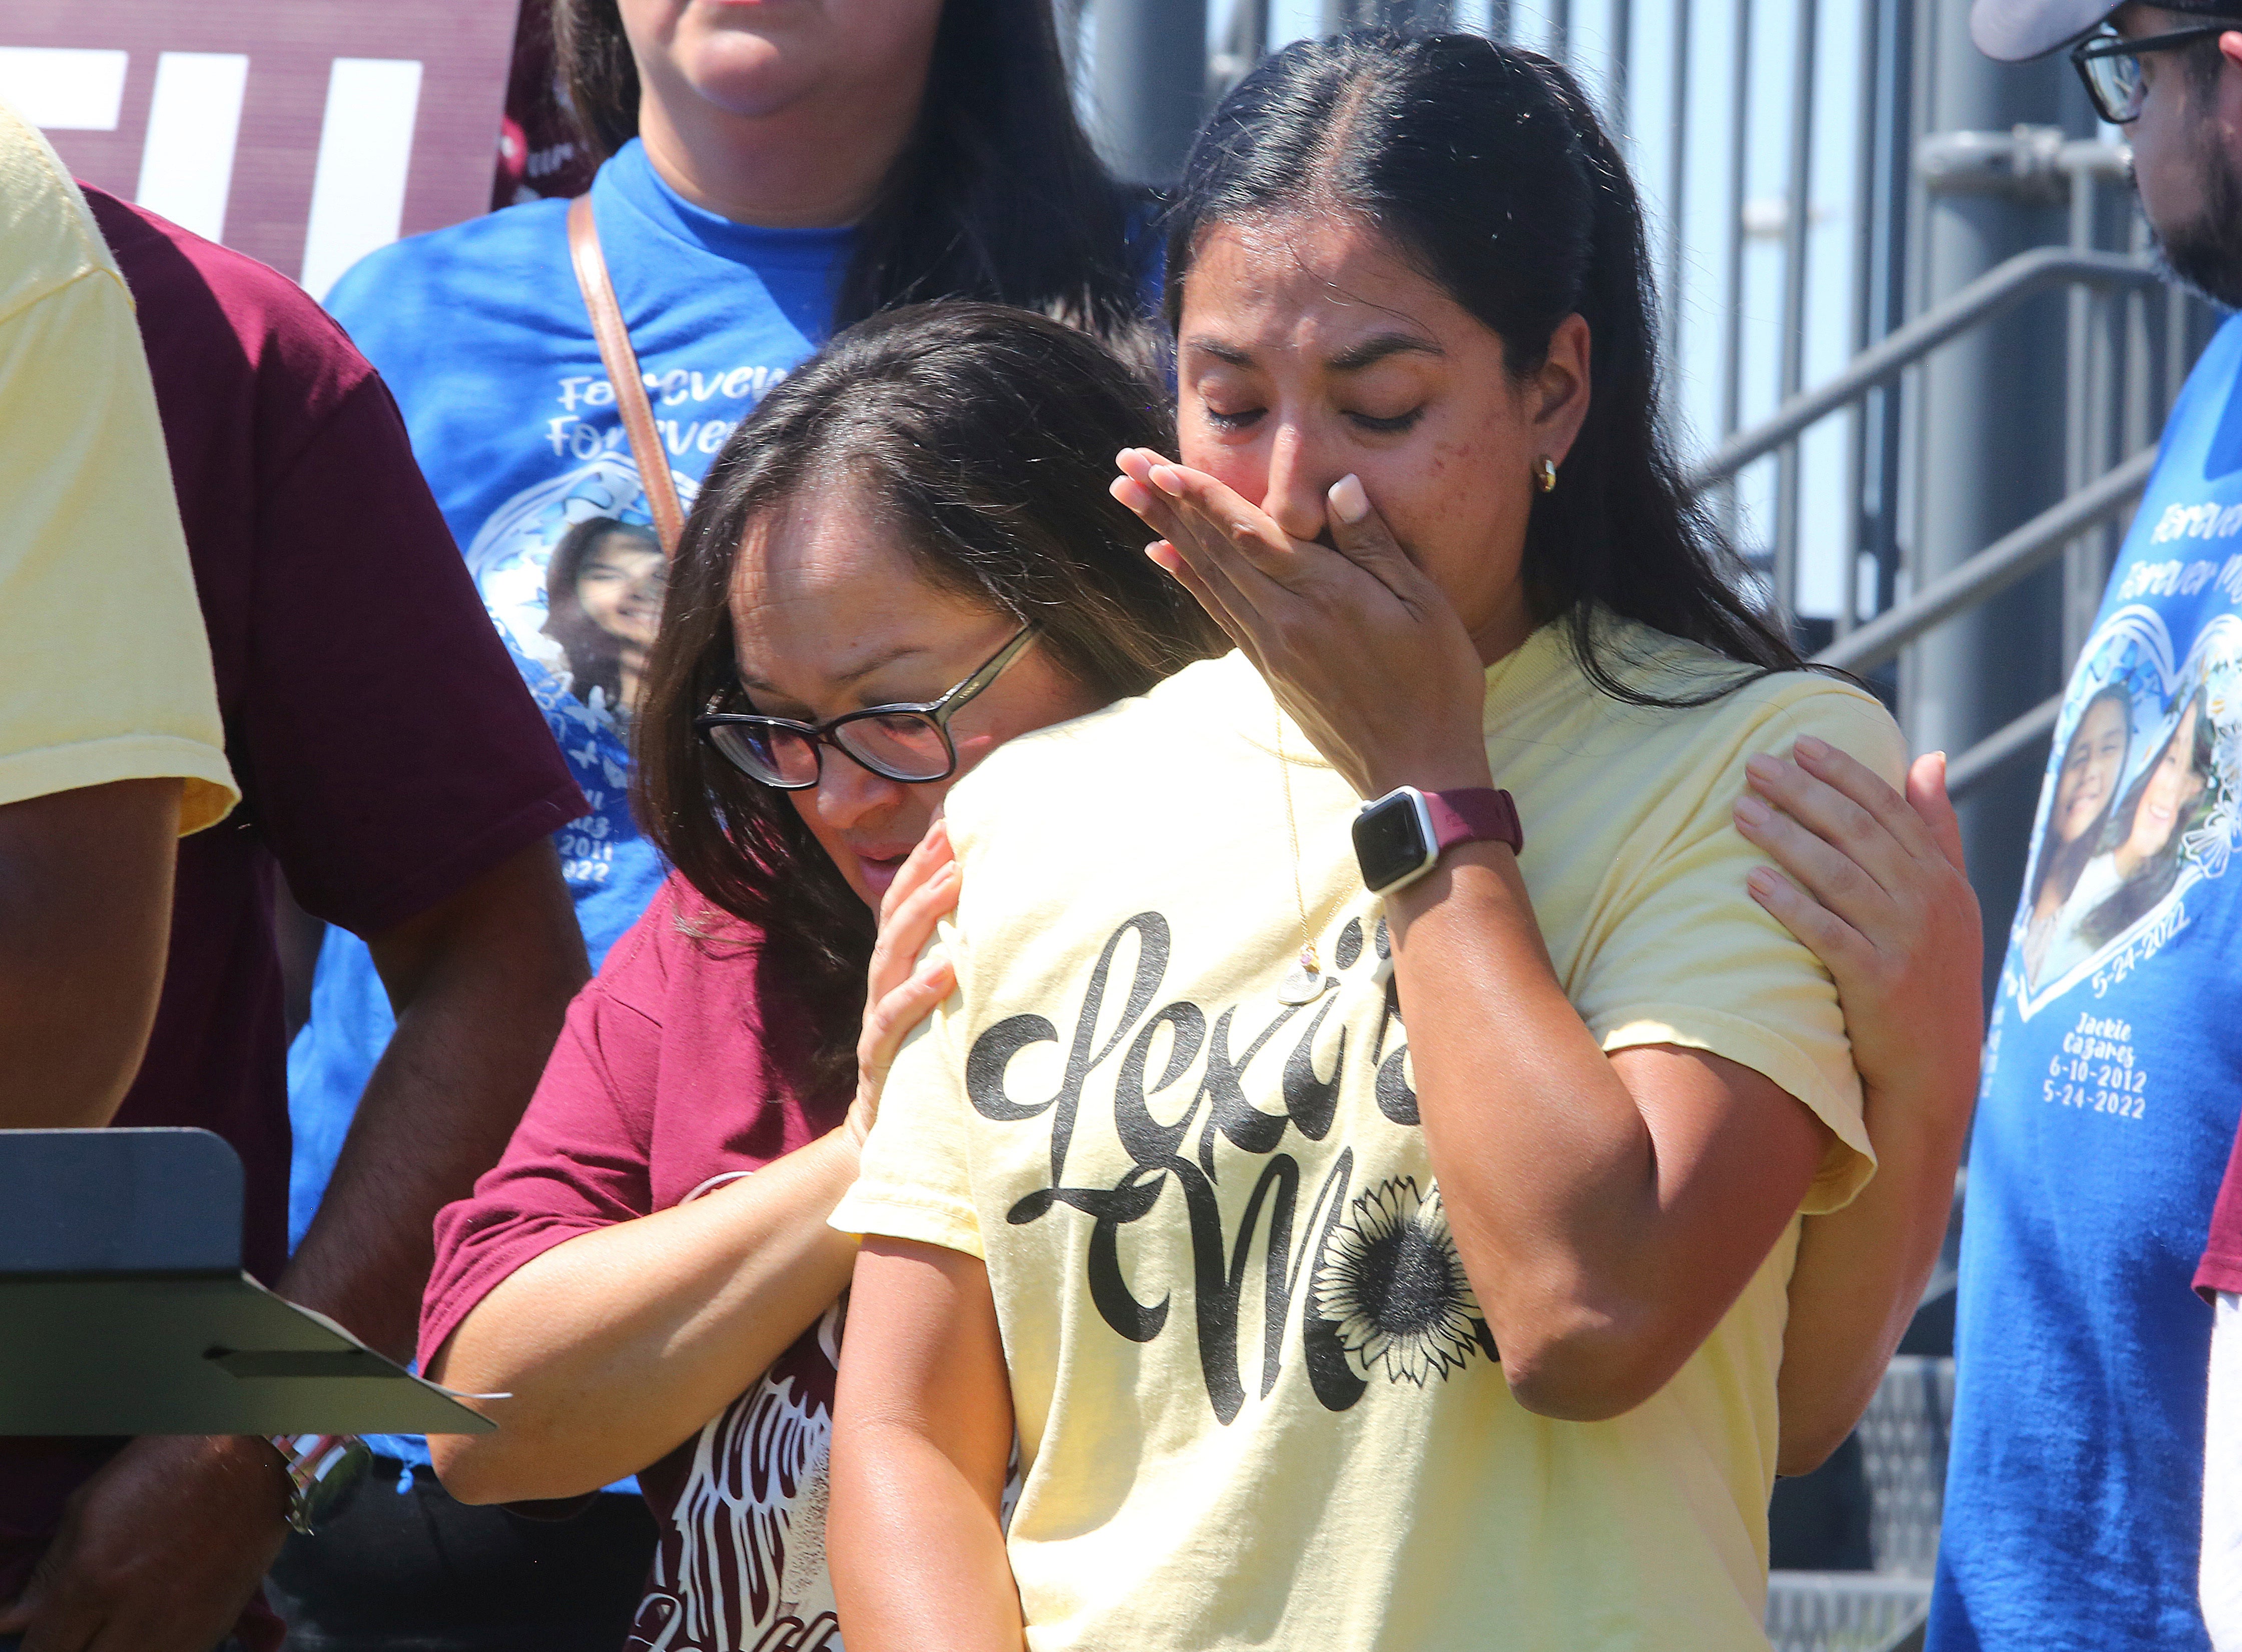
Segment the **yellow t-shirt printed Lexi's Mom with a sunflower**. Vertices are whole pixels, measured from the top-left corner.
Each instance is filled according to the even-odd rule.
[[[1735,668],[1612,621],[1666,697]],[[1686,1045],[1827,1123],[1807,1213],[1872,1159],[1829,977],[1744,890],[1742,764],[1800,733],[1886,778],[1863,693],[1695,711],[1590,688],[1558,628],[1486,672],[1486,749],[1567,995],[1605,1049]],[[1022,1450],[1029,1648],[1755,1648],[1782,1242],[1706,1345],[1603,1423],[1511,1399],[1448,1237],[1356,796],[1240,657],[1029,735],[951,796],[957,993],[897,1060],[834,1226],[989,1264]],[[1489,1062],[1502,1051],[1489,1049]]]

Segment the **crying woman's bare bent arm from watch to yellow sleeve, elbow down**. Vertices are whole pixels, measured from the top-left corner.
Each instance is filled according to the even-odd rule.
[[[1764,1262],[1821,1125],[1717,1056],[1605,1056],[1504,845],[1453,852],[1388,917],[1426,1148],[1504,1376],[1531,1410],[1614,1417]]]

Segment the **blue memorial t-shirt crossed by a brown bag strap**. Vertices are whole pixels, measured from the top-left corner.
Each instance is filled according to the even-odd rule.
[[[682,199],[632,141],[592,208],[677,493],[827,334],[845,229],[735,224]],[[661,888],[630,818],[628,706],[661,603],[661,551],[567,256],[567,204],[531,202],[386,247],[327,296],[413,433],[413,453],[592,814],[558,834],[592,966]],[[558,563],[558,576],[554,565]],[[350,731],[339,728],[339,740]],[[289,1049],[289,1244],[334,1172],[395,1020],[365,944],[330,930]],[[379,1441],[408,1459],[404,1441]]]

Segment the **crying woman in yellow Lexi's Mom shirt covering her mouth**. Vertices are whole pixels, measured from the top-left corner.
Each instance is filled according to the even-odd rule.
[[[1168,305],[1182,464],[1114,491],[1240,652],[948,798],[957,993],[834,1213],[850,1645],[1758,1645],[1800,1217],[1872,1157],[1735,800],[1845,838],[1780,755],[1897,728],[1722,581],[1560,67],[1287,49]]]

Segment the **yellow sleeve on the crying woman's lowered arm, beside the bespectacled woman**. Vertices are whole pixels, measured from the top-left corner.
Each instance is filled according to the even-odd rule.
[[[953,959],[962,957],[948,926],[942,946]],[[964,973],[960,966],[960,982]],[[960,989],[897,1051],[856,1186],[830,1217],[843,1233],[879,1233],[986,1257],[973,1210],[964,1071],[955,1056],[962,1011]]]

